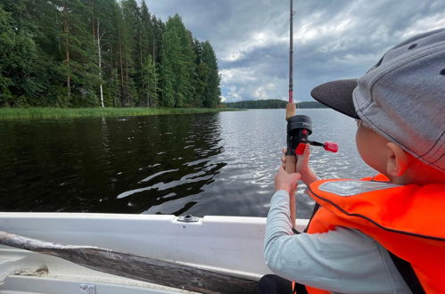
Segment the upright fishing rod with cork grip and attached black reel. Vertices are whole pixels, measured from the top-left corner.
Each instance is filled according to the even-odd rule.
[[[296,170],[297,155],[302,155],[306,144],[323,147],[326,151],[338,151],[337,143],[325,142],[319,143],[309,141],[309,135],[312,134],[312,120],[306,115],[296,114],[296,105],[293,103],[293,0],[290,5],[290,42],[289,42],[289,102],[286,104],[286,120],[287,120],[287,151],[285,154],[286,163],[285,170],[289,174],[299,172]],[[295,191],[291,192],[289,197],[291,208],[291,220],[293,230],[295,225]]]

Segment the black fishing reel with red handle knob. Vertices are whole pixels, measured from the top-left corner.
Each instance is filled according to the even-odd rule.
[[[309,141],[312,134],[312,120],[306,115],[294,115],[287,120],[287,152],[286,155],[301,155],[306,144],[323,147],[326,151],[337,152],[338,144],[334,142],[320,143]]]

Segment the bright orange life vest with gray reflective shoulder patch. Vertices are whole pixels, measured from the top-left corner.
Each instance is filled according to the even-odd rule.
[[[320,208],[308,233],[325,233],[336,226],[357,229],[408,262],[426,292],[445,293],[445,184],[387,181],[379,175],[310,184],[309,195]]]

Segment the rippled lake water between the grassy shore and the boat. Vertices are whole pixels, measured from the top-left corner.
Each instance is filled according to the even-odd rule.
[[[318,176],[374,174],[356,125],[333,110],[301,110]],[[0,210],[266,216],[285,145],[284,110],[0,122]],[[312,202],[299,188],[299,217]]]

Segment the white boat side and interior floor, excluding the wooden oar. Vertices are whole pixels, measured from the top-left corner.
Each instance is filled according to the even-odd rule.
[[[307,224],[308,220],[298,219],[297,229],[302,230]],[[265,225],[265,217],[246,216],[14,212],[0,215],[0,230],[7,233],[63,245],[111,249],[254,283],[271,273],[263,258]],[[0,294],[194,292],[181,286],[177,277],[169,282],[161,278],[157,281],[157,276],[169,276],[169,270],[170,267],[159,266],[146,273],[154,282],[146,282],[99,272],[60,257],[0,246]],[[186,279],[194,280],[190,276]],[[202,286],[205,279],[198,279],[197,284]],[[234,292],[234,288],[227,292]]]

